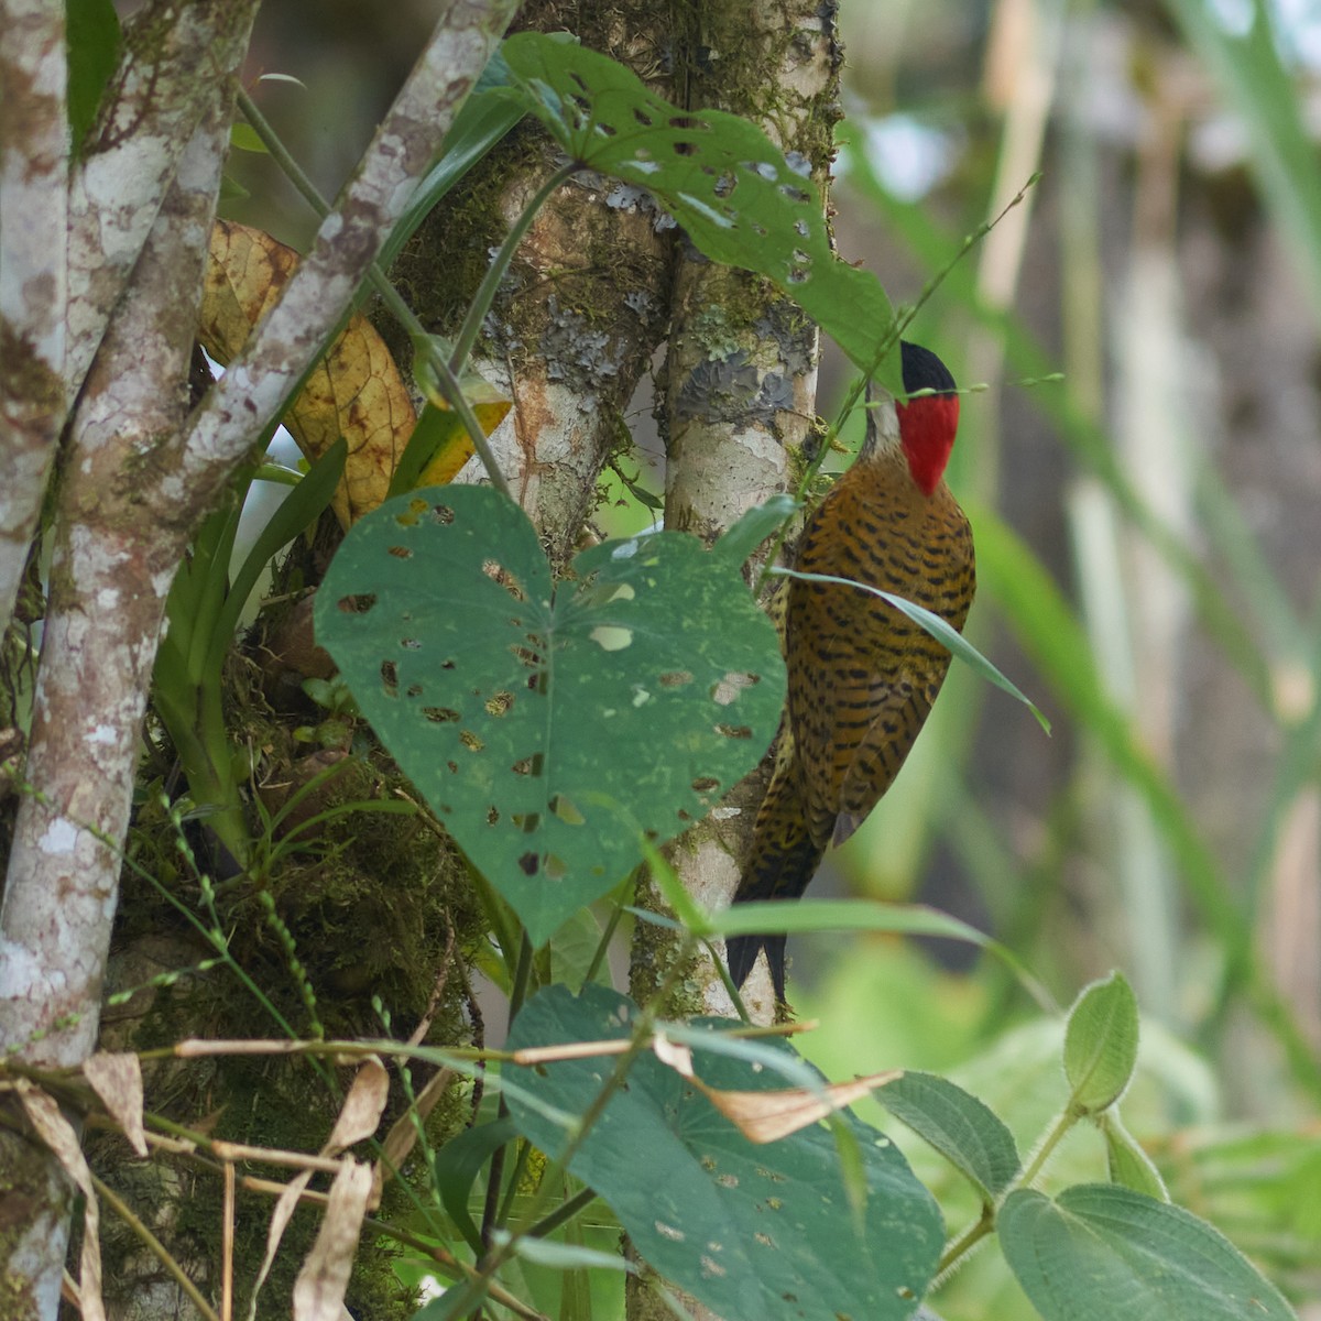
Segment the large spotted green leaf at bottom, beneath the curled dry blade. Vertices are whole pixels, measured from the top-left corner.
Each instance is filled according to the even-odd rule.
[[[588,987],[579,999],[551,987],[524,1005],[509,1045],[627,1037],[635,1015],[630,1000],[602,987]],[[720,1020],[712,1029],[727,1025]],[[778,1049],[791,1054],[787,1045]],[[766,1070],[701,1048],[694,1062],[708,1086],[774,1086]],[[524,1086],[581,1114],[609,1071],[601,1059],[565,1061],[547,1065]],[[510,1108],[530,1141],[552,1159],[563,1151],[572,1128],[547,1124],[513,1096]],[[823,1127],[753,1145],[650,1054],[637,1059],[626,1089],[585,1135],[571,1169],[610,1205],[660,1275],[719,1316],[900,1321],[913,1313],[935,1271],[939,1213],[892,1143],[853,1119],[841,1122],[861,1152],[861,1229]]]

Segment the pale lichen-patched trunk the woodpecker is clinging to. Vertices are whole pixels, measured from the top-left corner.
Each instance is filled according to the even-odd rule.
[[[810,176],[824,207],[839,118],[835,5],[727,0],[694,13],[694,30],[684,34],[688,107],[760,124]],[[790,454],[814,425],[816,363],[816,326],[769,280],[686,252],[675,275],[666,373],[667,527],[711,542],[785,489]],[[704,904],[724,904],[738,884],[768,775],[769,761],[675,849],[684,884]],[[703,987],[695,1008],[733,1012],[713,967],[694,975]],[[742,995],[754,1020],[774,1018],[764,959]]]

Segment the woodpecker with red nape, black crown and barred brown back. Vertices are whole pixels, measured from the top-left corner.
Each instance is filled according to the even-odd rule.
[[[794,567],[890,592],[962,631],[976,588],[972,531],[943,480],[959,396],[934,353],[900,351],[909,398],[894,408],[898,437],[868,410],[857,460],[807,520]],[[802,896],[827,845],[843,844],[893,783],[950,664],[925,629],[869,592],[790,579],[783,612],[789,695],[736,904]],[[742,985],[762,948],[783,1000],[783,935],[732,937],[729,974]]]

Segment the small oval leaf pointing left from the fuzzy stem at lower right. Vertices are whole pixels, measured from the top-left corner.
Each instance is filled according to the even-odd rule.
[[[946,1078],[905,1073],[877,1100],[970,1178],[993,1202],[1022,1166],[1013,1133],[976,1096]]]

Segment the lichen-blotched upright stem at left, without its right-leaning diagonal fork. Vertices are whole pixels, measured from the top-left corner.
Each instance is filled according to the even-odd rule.
[[[184,553],[184,530],[153,518],[139,498],[140,465],[184,421],[232,75],[255,13],[252,0],[219,44],[217,58],[229,61],[211,107],[188,144],[73,419],[33,700],[32,791],[18,810],[0,908],[0,1040],[42,1063],[74,1063],[96,1040],[118,898],[112,841],[128,826],[165,594]],[[53,1159],[42,1162],[37,1152],[12,1135],[0,1143],[0,1180],[28,1182],[29,1214],[44,1226],[40,1244],[0,1242],[7,1277],[32,1285],[16,1317],[54,1316],[63,1262],[70,1189]],[[44,1285],[52,1277],[54,1300]]]

